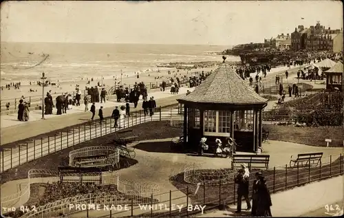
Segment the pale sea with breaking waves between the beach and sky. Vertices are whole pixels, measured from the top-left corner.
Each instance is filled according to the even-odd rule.
[[[1,85],[30,83],[45,72],[52,82],[162,70],[166,63],[222,61],[219,45],[142,45],[105,43],[1,42]],[[239,57],[229,56],[229,61]]]

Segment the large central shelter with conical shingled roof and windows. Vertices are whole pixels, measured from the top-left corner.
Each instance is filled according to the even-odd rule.
[[[215,145],[234,138],[237,151],[257,152],[262,142],[262,110],[268,100],[257,94],[228,63],[222,63],[188,96],[184,105],[184,149],[197,151],[202,137]]]

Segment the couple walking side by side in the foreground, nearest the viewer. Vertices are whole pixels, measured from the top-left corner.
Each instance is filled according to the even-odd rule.
[[[250,198],[248,197],[250,171],[246,164],[241,164],[241,168],[237,172],[237,175],[235,175],[235,183],[238,184],[236,213],[241,212],[241,199],[244,197],[247,204],[246,210],[251,210],[252,217],[272,217],[270,210],[272,201],[263,173],[255,173],[255,180],[252,184],[252,206],[250,204]]]

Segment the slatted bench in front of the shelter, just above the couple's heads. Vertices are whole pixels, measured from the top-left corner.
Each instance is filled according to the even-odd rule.
[[[247,164],[248,168],[266,168],[269,166],[270,155],[237,155],[233,154],[232,168],[237,164]]]

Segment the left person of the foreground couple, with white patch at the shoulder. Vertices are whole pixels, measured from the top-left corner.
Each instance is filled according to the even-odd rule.
[[[241,212],[241,199],[245,198],[247,208],[246,210],[251,209],[250,198],[248,198],[248,186],[249,186],[249,177],[250,172],[245,164],[241,164],[242,168],[239,169],[237,175],[235,176],[235,183],[238,184],[237,188],[237,211],[235,213]]]

